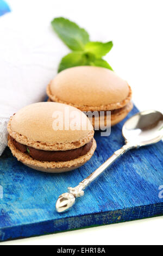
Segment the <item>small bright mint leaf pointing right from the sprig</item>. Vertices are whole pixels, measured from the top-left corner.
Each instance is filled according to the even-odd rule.
[[[101,58],[108,53],[113,44],[110,42],[87,42],[85,45],[85,51],[95,54],[96,58]]]

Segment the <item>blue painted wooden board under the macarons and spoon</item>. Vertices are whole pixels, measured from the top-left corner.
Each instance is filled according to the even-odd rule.
[[[128,118],[136,112],[134,107]],[[78,185],[122,147],[124,121],[112,127],[109,137],[96,132],[95,155],[70,173],[37,172],[18,162],[7,148],[0,157],[0,240],[163,215],[163,199],[159,198],[159,186],[163,185],[162,142],[128,151],[98,182],[86,188],[85,196],[78,198],[70,211],[55,211],[58,196],[68,186]]]

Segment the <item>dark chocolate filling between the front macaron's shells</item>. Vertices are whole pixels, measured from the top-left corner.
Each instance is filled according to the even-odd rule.
[[[61,162],[61,161],[70,161],[78,158],[79,156],[85,155],[90,148],[92,147],[93,139],[83,147],[77,149],[70,149],[65,151],[48,151],[40,150],[27,145],[23,145],[17,142],[14,138],[10,136],[11,142],[14,144],[15,148],[20,150],[22,153],[28,153],[33,159],[39,161],[48,161],[48,162]]]

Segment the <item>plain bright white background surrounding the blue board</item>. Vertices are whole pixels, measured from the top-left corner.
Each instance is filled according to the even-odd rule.
[[[161,0],[8,0],[7,2],[15,13],[26,13],[26,19],[33,22],[34,29],[37,28],[38,31],[46,29],[54,17],[64,16],[86,28],[91,40],[112,40],[114,47],[105,59],[116,73],[130,84],[136,106],[140,110],[153,108],[162,112],[163,3]],[[163,244],[162,224],[163,217],[156,217],[4,242],[1,245],[156,245]]]

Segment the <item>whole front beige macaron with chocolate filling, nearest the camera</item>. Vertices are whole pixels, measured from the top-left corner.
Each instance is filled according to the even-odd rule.
[[[77,108],[57,102],[28,105],[8,123],[8,146],[26,166],[42,172],[76,169],[96,149],[93,127]]]

